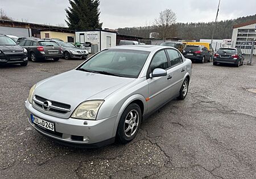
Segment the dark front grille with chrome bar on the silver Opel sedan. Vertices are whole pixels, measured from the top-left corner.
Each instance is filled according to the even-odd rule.
[[[43,103],[45,101],[50,101],[52,103],[51,106],[49,106],[49,109],[48,109],[49,112],[65,114],[70,111],[71,105],[69,104],[64,104],[57,101],[51,101],[51,100],[45,99],[44,97],[35,95],[34,104],[39,108],[43,109]]]

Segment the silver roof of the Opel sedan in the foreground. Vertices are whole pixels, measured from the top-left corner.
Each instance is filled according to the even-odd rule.
[[[167,48],[167,47],[159,46],[159,45],[119,45],[109,49],[142,50],[142,51],[153,52],[154,50],[158,50],[158,49],[160,50],[164,48]]]

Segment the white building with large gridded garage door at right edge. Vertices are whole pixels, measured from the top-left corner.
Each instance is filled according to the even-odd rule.
[[[243,53],[250,54],[252,42],[256,41],[256,19],[233,27],[232,47],[240,48]],[[254,44],[254,54],[256,54]]]

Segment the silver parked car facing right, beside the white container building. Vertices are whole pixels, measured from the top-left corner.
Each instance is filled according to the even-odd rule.
[[[80,58],[86,59],[88,57],[88,51],[82,48],[78,48],[69,42],[56,42],[61,46],[63,57],[65,59]]]

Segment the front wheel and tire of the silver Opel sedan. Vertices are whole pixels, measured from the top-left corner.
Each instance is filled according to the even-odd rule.
[[[131,116],[133,114],[133,116]],[[138,104],[132,103],[123,111],[117,127],[116,139],[119,143],[128,143],[133,140],[141,126],[142,114]],[[131,128],[133,126],[133,128]],[[134,129],[134,127],[136,127]]]

